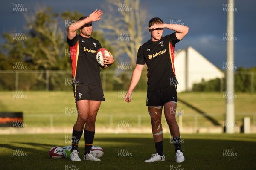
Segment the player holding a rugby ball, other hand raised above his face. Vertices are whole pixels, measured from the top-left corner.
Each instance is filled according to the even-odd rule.
[[[77,121],[72,132],[71,161],[81,161],[78,144],[84,132],[84,156],[86,161],[100,161],[93,156],[91,148],[95,134],[95,121],[101,101],[105,101],[102,90],[100,68],[96,61],[96,52],[101,48],[98,40],[91,37],[93,22],[100,19],[101,10],[95,10],[89,17],[81,17],[67,29],[67,43],[72,62],[72,85],[78,111]],[[76,30],[80,34],[76,34]],[[103,68],[114,63],[113,56],[104,59]],[[84,126],[85,125],[85,126]]]

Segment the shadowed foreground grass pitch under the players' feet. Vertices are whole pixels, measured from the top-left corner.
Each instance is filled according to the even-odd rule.
[[[93,144],[104,149],[100,162],[72,162],[69,159],[52,160],[48,151],[53,146],[64,147],[70,134],[0,135],[0,160],[2,170],[255,170],[256,135],[245,134],[185,134],[183,153],[185,162],[175,162],[175,152],[169,135],[164,134],[166,161],[144,163],[155,152],[150,134],[97,134]],[[79,145],[79,156],[84,150],[84,137]],[[13,150],[23,150],[26,156],[13,156]],[[118,150],[128,150],[129,157],[119,157]],[[223,157],[223,150],[233,150],[233,155]],[[21,153],[21,151],[20,151]]]

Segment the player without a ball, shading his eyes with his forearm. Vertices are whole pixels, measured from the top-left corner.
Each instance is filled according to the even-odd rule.
[[[162,37],[163,28],[175,32]],[[131,78],[131,84],[125,95],[125,101],[131,102],[132,91],[140,80],[141,72],[147,64],[148,89],[146,105],[151,116],[152,133],[156,154],[145,162],[165,161],[163,154],[162,109],[173,139],[176,162],[185,160],[181,149],[180,131],[175,119],[177,106],[177,80],[174,68],[175,44],[185,37],[189,28],[178,24],[163,23],[160,18],[149,21],[151,39],[140,46],[137,62]]]

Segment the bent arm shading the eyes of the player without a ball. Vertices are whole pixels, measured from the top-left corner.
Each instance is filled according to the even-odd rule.
[[[189,32],[189,27],[179,25],[179,24],[172,24],[172,23],[171,24],[168,24],[168,23],[155,24],[149,28],[149,31],[154,30],[154,29],[159,29],[159,28],[161,28],[161,29],[168,28],[168,29],[172,29],[172,30],[176,31],[176,37],[179,40],[182,40],[183,37],[185,37],[187,35],[187,33]]]

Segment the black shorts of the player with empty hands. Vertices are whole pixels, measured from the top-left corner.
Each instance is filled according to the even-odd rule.
[[[176,85],[148,92],[147,94],[147,106],[163,106],[170,101],[177,103]]]

